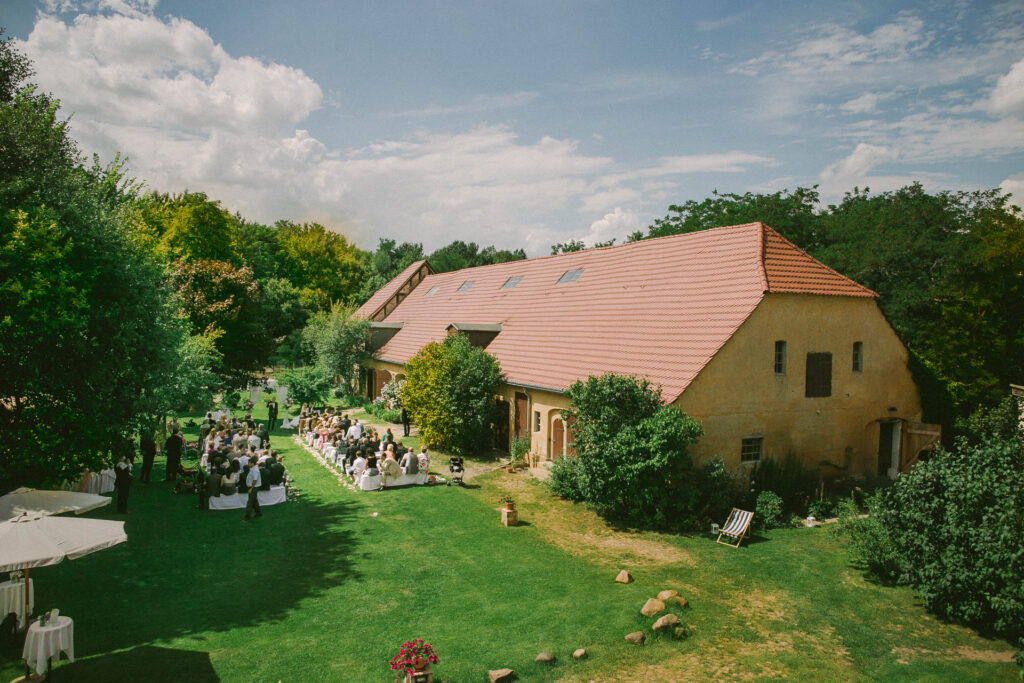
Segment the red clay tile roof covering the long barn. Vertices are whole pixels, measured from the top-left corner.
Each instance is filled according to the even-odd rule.
[[[575,269],[577,282],[556,284]],[[510,278],[522,280],[502,289]],[[381,292],[360,310],[386,301]],[[501,324],[486,349],[511,384],[560,391],[591,375],[640,375],[673,401],[766,292],[874,296],[750,223],[427,275],[387,316],[403,327],[374,356],[403,364],[452,323]]]

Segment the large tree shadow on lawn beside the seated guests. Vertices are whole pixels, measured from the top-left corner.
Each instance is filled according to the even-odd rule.
[[[162,467],[154,483],[132,486],[128,515],[113,505],[90,514],[126,520],[128,543],[33,577],[36,611],[58,606],[75,620],[80,656],[273,623],[359,579],[352,503],[300,494],[244,524],[244,510],[200,510],[195,495],[158,477]]]

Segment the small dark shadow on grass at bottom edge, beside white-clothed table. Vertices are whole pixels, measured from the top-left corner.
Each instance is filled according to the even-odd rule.
[[[62,681],[189,681],[217,683],[220,677],[207,652],[142,645],[122,652],[78,659],[53,676]]]

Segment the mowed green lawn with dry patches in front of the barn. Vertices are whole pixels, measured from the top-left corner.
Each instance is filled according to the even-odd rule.
[[[399,428],[400,429],[400,428]],[[194,434],[195,432],[193,432]],[[709,537],[631,533],[552,499],[523,473],[471,486],[354,493],[291,440],[274,445],[300,496],[201,511],[171,485],[134,484],[128,543],[33,571],[38,610],[75,618],[73,681],[388,681],[398,645],[434,643],[438,681],[1014,681],[1014,649],[937,622],[913,594],[850,565],[821,529],[732,550]],[[433,470],[446,474],[434,459]],[[163,477],[158,459],[155,479]],[[498,498],[524,524],[500,523]],[[90,516],[118,518],[113,505]],[[613,583],[620,568],[635,581]],[[675,589],[684,640],[639,614]],[[646,631],[646,644],[623,637]],[[589,656],[574,660],[585,647]],[[534,663],[542,650],[558,660]],[[19,651],[0,676],[24,670]]]

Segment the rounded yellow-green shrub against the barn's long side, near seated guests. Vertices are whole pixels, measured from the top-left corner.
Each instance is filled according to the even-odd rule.
[[[401,402],[424,442],[453,453],[479,451],[492,442],[497,420],[495,392],[502,381],[498,360],[464,335],[431,342],[406,364]]]

